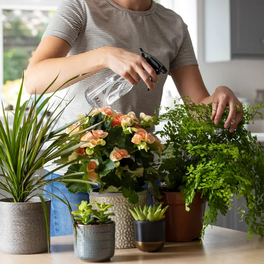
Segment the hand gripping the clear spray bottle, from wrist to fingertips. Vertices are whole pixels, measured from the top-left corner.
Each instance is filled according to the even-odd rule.
[[[154,89],[153,83],[158,82],[158,76],[142,56],[121,48],[104,47],[103,49],[106,55],[106,67],[124,77],[132,85],[138,84],[141,77],[150,90]],[[145,71],[151,76],[153,82]]]

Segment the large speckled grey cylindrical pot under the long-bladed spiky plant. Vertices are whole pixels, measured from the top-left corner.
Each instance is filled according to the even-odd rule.
[[[10,198],[12,199],[12,198]],[[50,199],[44,198],[50,221]],[[37,254],[48,251],[45,214],[40,199],[12,203],[0,199],[0,251],[8,254]]]

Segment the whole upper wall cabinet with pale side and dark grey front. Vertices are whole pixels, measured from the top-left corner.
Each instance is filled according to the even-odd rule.
[[[206,62],[264,58],[264,0],[203,0]]]

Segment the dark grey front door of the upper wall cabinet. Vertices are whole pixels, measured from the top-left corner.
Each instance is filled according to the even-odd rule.
[[[232,57],[264,58],[264,0],[230,0]]]

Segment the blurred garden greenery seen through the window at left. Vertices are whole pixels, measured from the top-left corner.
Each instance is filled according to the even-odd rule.
[[[23,70],[53,16],[53,11],[3,10],[4,87],[8,104],[16,105]],[[28,99],[23,89],[21,102]]]

